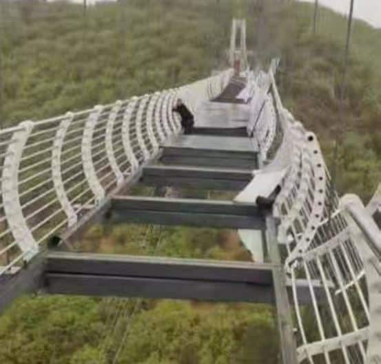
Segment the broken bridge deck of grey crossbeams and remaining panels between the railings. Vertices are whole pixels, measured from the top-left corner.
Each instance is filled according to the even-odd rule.
[[[200,104],[195,113],[195,135],[179,135],[165,142],[161,158],[142,166],[138,178],[144,183],[158,182],[156,186],[192,184],[196,189],[226,186],[238,193],[251,180],[251,171],[258,168],[258,150],[247,137],[249,107],[235,99],[242,88],[236,86],[230,87],[220,102],[217,98]],[[94,221],[95,212],[99,211],[108,222],[247,229],[258,232],[255,235],[258,242],[251,243],[262,247],[270,239],[274,244],[274,231],[267,226],[271,217],[263,215],[254,204],[117,194],[107,196],[105,202],[90,212],[87,221]],[[79,222],[70,228],[63,239],[72,242],[85,224]],[[6,289],[12,289],[0,301],[0,310],[22,292],[41,288],[52,294],[246,301],[283,307],[284,300],[279,297],[289,294],[287,281],[274,282],[281,269],[278,261],[274,265],[62,252],[41,254],[34,263],[32,279],[25,269],[19,273],[23,284],[10,286],[15,277],[4,283]],[[304,292],[302,301],[309,302],[309,287],[301,282],[300,290]],[[288,308],[285,306],[280,312],[285,317]]]

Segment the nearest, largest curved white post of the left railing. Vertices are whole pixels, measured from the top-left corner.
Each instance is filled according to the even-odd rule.
[[[34,127],[32,121],[22,122],[21,130],[15,131],[7,149],[3,162],[1,189],[3,191],[3,206],[6,219],[12,231],[14,240],[24,253],[24,260],[30,260],[39,250],[28,224],[23,216],[19,197],[19,166],[23,149]]]

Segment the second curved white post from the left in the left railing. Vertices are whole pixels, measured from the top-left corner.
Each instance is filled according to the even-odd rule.
[[[68,226],[76,224],[78,218],[72,204],[70,204],[68,195],[65,191],[65,187],[63,186],[61,174],[61,153],[66,132],[68,131],[73,118],[74,115],[71,112],[68,112],[68,114],[65,115],[65,118],[63,118],[56,131],[52,149],[52,179],[54,189],[56,190],[56,195],[63,208],[63,211],[65,212],[66,216],[68,216]]]

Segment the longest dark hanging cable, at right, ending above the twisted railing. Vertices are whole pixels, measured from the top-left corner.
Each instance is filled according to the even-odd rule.
[[[347,23],[347,40],[345,44],[345,54],[344,54],[344,66],[342,70],[342,82],[340,87],[340,95],[339,95],[339,114],[338,114],[338,125],[336,126],[336,135],[335,135],[335,147],[333,150],[333,168],[332,168],[332,183],[331,183],[331,199],[333,200],[333,196],[335,191],[337,191],[337,175],[338,175],[338,154],[339,154],[339,144],[340,144],[340,134],[342,131],[340,130],[340,126],[343,125],[344,121],[344,98],[347,91],[347,74],[348,74],[348,65],[349,65],[349,52],[351,47],[351,34],[352,34],[352,23],[353,23],[353,8],[355,0],[350,0],[351,6],[349,9],[349,18]],[[329,220],[331,221],[333,211],[333,204],[329,205]]]

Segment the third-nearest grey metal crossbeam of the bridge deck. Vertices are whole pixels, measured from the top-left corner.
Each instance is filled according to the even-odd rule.
[[[240,191],[252,178],[251,171],[247,169],[155,165],[143,169],[141,182],[156,186]]]

